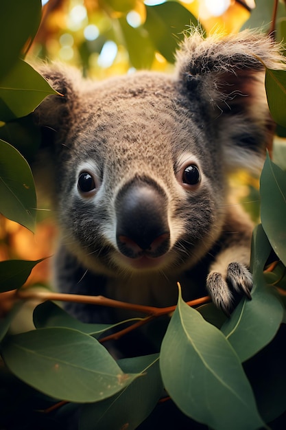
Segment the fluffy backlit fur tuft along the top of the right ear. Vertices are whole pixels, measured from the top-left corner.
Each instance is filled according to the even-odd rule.
[[[198,29],[193,29],[176,54],[179,79],[191,90],[200,87],[209,101],[219,104],[234,99],[243,89],[241,85],[248,88],[243,78],[263,72],[263,63],[270,69],[286,68],[279,45],[250,30],[204,38]]]

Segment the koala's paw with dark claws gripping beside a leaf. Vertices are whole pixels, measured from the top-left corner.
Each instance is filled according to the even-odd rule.
[[[211,271],[206,279],[206,287],[215,305],[229,316],[241,295],[251,299],[252,275],[243,264],[232,262],[228,264],[225,277],[222,273]]]

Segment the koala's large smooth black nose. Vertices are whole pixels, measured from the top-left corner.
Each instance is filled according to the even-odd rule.
[[[167,199],[149,183],[127,185],[116,202],[117,246],[124,256],[156,258],[169,249]]]

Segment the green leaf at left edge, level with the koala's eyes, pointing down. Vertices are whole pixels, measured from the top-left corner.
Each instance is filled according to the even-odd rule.
[[[34,231],[36,191],[31,169],[20,152],[0,140],[0,212]]]

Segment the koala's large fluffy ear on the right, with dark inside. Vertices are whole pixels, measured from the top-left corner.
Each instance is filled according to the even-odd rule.
[[[279,45],[248,30],[207,38],[193,30],[176,60],[181,91],[199,104],[207,121],[215,122],[212,129],[222,142],[226,167],[261,167],[275,127],[267,106],[264,65],[285,69]]]

